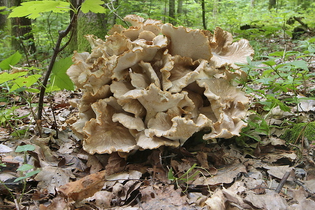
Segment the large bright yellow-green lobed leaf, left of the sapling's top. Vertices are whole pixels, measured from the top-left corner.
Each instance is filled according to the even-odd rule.
[[[23,2],[21,6],[12,10],[9,17],[24,17],[35,19],[43,12],[62,13],[70,10],[69,3],[61,1],[31,1]]]

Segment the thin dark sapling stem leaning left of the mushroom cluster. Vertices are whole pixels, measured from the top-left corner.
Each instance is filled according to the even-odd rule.
[[[82,0],[80,0],[78,2],[77,6],[76,6],[77,13],[79,12],[79,10],[81,8],[81,5],[82,5]],[[62,39],[64,39],[70,33],[71,29],[73,29],[73,26],[76,24],[76,22],[77,22],[77,13],[72,16],[68,27],[64,31],[59,31],[58,32],[59,36],[58,36],[57,42],[55,44],[55,47],[53,48],[53,55],[51,57],[51,60],[50,60],[50,63],[49,63],[47,72],[45,74],[45,77],[44,77],[44,80],[43,80],[43,83],[42,83],[42,87],[41,87],[41,92],[40,92],[39,102],[38,102],[38,112],[37,112],[37,120],[38,121],[41,121],[41,119],[42,119],[43,104],[44,104],[44,96],[45,96],[46,86],[47,86],[47,82],[48,82],[49,76],[51,74],[53,65],[54,65],[54,63],[56,61],[58,53],[61,52],[63,49],[65,49],[65,47],[69,44],[69,42],[71,40],[71,37],[70,37],[69,41],[62,47],[60,47],[61,41],[62,41]],[[57,131],[57,128],[56,128],[56,131]]]

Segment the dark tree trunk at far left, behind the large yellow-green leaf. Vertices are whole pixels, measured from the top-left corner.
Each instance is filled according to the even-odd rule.
[[[12,6],[20,6],[21,0],[9,1]],[[11,18],[11,32],[12,42],[11,45],[14,50],[24,51],[27,56],[28,53],[34,53],[36,51],[34,36],[31,33],[31,20],[26,17],[14,17]]]

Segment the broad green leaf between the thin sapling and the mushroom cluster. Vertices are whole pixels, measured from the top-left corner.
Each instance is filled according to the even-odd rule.
[[[56,62],[51,71],[50,82],[60,89],[74,91],[74,84],[66,73],[72,64],[71,57],[61,58]]]

